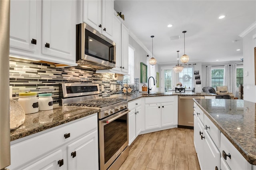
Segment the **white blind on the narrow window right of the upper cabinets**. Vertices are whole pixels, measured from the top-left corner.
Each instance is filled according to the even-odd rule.
[[[134,84],[134,48],[128,47],[128,74],[124,76],[124,83]]]

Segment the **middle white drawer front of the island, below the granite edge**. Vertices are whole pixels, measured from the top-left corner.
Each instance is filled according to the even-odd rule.
[[[217,148],[220,148],[220,130],[212,123],[212,121],[210,121],[206,115],[204,115],[204,129],[211,136]]]

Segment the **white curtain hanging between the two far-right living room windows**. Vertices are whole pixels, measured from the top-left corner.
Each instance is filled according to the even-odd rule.
[[[232,92],[236,97],[236,65],[225,65],[224,66],[224,85],[228,87],[228,92]]]

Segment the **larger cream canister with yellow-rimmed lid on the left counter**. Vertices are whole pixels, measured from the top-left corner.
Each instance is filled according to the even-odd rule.
[[[36,113],[39,111],[38,108],[38,99],[36,97],[36,92],[25,92],[25,93],[19,93],[19,99],[18,102],[24,109],[25,114],[30,113]]]

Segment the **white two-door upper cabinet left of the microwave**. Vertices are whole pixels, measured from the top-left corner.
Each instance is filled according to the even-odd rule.
[[[76,1],[10,2],[10,55],[61,64],[58,66],[77,65]]]

